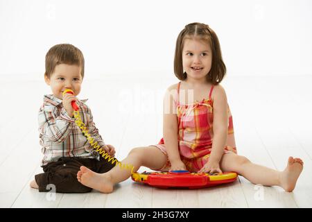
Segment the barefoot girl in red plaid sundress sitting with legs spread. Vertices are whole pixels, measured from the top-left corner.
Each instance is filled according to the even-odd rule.
[[[123,164],[132,164],[134,171],[141,166],[159,171],[234,171],[254,184],[293,191],[303,169],[299,158],[289,157],[286,169],[276,171],[236,154],[232,114],[220,85],[226,68],[218,37],[209,26],[192,23],[180,32],[174,71],[181,81],[166,91],[164,138],[157,145],[133,148]],[[80,167],[77,173],[79,182],[103,193],[130,176],[130,170],[118,166],[103,174]]]

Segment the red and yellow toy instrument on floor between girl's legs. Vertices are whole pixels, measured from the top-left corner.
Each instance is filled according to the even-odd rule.
[[[209,173],[189,173],[189,171],[145,171],[144,173],[132,173],[131,178],[135,182],[143,182],[159,188],[187,187],[189,189],[198,189],[234,182],[237,179],[237,173],[225,172],[210,175]]]

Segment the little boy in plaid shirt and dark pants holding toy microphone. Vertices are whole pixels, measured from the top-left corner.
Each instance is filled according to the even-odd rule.
[[[103,142],[94,125],[91,110],[85,101],[76,98],[83,83],[84,70],[83,53],[71,44],[57,44],[46,53],[44,80],[53,94],[44,96],[38,117],[44,173],[35,176],[31,187],[39,191],[50,191],[48,187],[55,185],[55,191],[60,193],[89,192],[92,188],[82,185],[76,178],[80,166],[98,173],[105,173],[114,167],[93,151],[73,118],[71,101],[76,101],[89,134],[108,155],[114,156],[114,146]],[[75,96],[63,96],[65,89],[71,89]]]

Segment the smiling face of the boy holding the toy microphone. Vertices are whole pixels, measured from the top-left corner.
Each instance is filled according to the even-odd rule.
[[[65,89],[73,90],[73,94],[77,96],[80,93],[83,77],[81,76],[81,67],[78,65],[57,65],[50,75],[50,78],[44,76],[46,84],[51,86],[53,95],[58,99],[62,99],[62,93]]]

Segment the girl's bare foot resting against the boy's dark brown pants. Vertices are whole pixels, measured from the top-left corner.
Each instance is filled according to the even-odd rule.
[[[113,191],[113,183],[107,173],[95,173],[87,167],[81,166],[77,173],[77,179],[83,185],[108,194]]]

